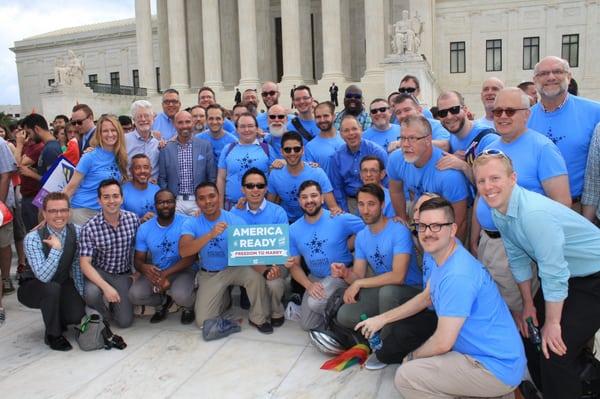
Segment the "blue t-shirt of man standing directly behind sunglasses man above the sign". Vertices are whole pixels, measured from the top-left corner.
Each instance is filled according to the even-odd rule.
[[[229,144],[232,146],[233,144]],[[275,160],[275,151],[269,147],[269,155],[259,144],[236,144],[227,146],[221,151],[219,169],[227,171],[225,183],[225,199],[237,202],[242,197],[242,176],[250,168],[258,168],[269,173],[269,167]]]

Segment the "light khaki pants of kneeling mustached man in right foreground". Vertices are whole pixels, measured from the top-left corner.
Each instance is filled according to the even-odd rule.
[[[481,363],[458,352],[402,364],[394,378],[404,399],[514,398],[510,387]]]

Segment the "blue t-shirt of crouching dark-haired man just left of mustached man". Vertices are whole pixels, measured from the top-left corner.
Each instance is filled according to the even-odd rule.
[[[376,276],[392,271],[395,255],[410,255],[404,284],[423,286],[423,275],[417,267],[412,235],[404,224],[388,220],[385,228],[377,234],[373,234],[369,226],[366,226],[356,235],[355,243],[354,258],[367,261]]]

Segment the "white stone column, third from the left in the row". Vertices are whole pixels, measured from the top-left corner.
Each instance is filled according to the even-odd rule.
[[[221,33],[218,0],[202,1],[205,86],[223,89],[221,73]]]

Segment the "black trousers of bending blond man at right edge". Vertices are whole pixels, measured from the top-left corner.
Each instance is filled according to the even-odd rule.
[[[534,303],[541,327],[545,320],[541,289]],[[529,342],[525,344],[529,373],[545,399],[581,397],[579,356],[600,329],[600,273],[569,279],[569,294],[564,301],[560,326],[567,346],[564,356],[557,356],[548,349],[550,358],[546,359]]]

